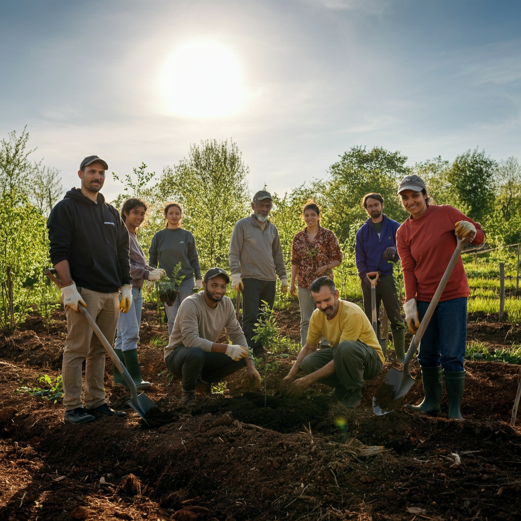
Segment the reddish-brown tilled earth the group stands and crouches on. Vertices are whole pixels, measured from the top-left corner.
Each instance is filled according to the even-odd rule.
[[[17,392],[59,374],[64,318],[57,311],[46,325],[33,316],[0,333],[1,520],[521,519],[521,424],[510,426],[520,366],[467,362],[465,421],[447,419],[445,395],[437,417],[403,406],[375,416],[371,400],[392,350],[353,411],[319,385],[282,399],[278,384],[293,356],[277,359],[267,389],[252,392],[238,373],[189,414],[179,382],[164,371],[166,327],[147,306],[139,357],[158,406],[150,425],[126,405],[128,391],[113,386],[108,357],[107,399],[128,416],[72,425],[59,403]],[[278,321],[300,338],[297,305]],[[521,327],[470,317],[468,339],[504,349],[521,343]],[[423,394],[415,364],[411,403]]]

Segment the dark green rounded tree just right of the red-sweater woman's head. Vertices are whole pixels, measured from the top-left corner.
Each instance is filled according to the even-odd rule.
[[[469,208],[468,217],[483,224],[494,210],[495,172],[498,163],[487,157],[485,151],[467,150],[457,156],[447,173],[450,188]],[[461,209],[461,208],[460,208]]]

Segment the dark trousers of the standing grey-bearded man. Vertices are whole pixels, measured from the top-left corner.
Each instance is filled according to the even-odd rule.
[[[267,302],[270,309],[273,308],[277,282],[275,280],[242,279],[242,283],[244,284],[242,292],[242,330],[248,346],[257,355],[259,352],[262,352],[264,346],[252,340],[252,337],[256,334],[253,329],[264,305],[262,301]]]

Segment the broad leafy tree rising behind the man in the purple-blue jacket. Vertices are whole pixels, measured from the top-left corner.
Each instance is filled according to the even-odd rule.
[[[386,215],[403,222],[406,214],[396,197],[396,189],[400,179],[411,173],[405,166],[406,160],[400,152],[381,147],[367,151],[365,146],[353,146],[329,167],[330,179],[314,183],[316,192],[326,200],[325,215],[334,225],[339,240],[349,237],[355,219],[367,219],[362,197],[369,192],[382,194]]]

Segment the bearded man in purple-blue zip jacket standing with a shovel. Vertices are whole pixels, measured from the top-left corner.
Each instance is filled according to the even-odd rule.
[[[377,193],[364,196],[363,205],[369,214],[369,219],[356,233],[355,258],[358,275],[361,279],[362,294],[364,295],[364,311],[371,321],[371,284],[366,277],[371,271],[379,271],[376,286],[376,309],[380,308],[380,301],[386,309],[391,322],[394,351],[398,362],[405,360],[405,330],[400,315],[400,302],[396,295],[392,264],[400,257],[396,251],[396,230],[400,223],[389,219],[383,210],[383,197]],[[380,324],[378,323],[378,338],[380,338]]]

